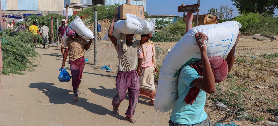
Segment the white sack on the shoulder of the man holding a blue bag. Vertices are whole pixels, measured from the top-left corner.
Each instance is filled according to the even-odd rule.
[[[85,26],[81,19],[76,16],[75,19],[69,24],[68,28],[72,28],[81,38],[85,40],[94,39],[94,33]],[[66,32],[64,33],[63,40],[66,40]]]

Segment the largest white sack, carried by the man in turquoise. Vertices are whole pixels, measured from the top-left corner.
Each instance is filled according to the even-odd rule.
[[[200,49],[195,34],[202,32],[209,39],[207,42],[208,56],[226,56],[235,44],[242,25],[237,21],[219,24],[200,25],[190,29],[172,48],[160,68],[154,108],[160,112],[173,109],[178,98],[178,76],[183,66],[201,60]]]

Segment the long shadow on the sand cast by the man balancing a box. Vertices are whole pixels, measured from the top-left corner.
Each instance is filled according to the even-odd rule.
[[[107,108],[104,108],[100,105],[90,103],[85,98],[79,98],[77,102],[73,101],[74,94],[69,94],[69,92],[72,92],[71,90],[63,89],[63,88],[58,88],[53,86],[55,85],[54,83],[30,83],[29,87],[30,88],[37,88],[44,93],[49,98],[49,102],[53,103],[55,105],[57,104],[71,104],[71,105],[76,105],[78,107],[82,107],[85,110],[98,114],[98,115],[111,115],[112,117],[118,118],[120,120],[125,120],[125,117],[119,115],[119,114],[114,114],[113,111],[108,110]],[[43,90],[44,89],[44,90]],[[103,92],[106,93],[106,92]]]

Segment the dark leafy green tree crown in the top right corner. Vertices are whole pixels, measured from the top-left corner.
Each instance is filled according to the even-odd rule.
[[[268,13],[274,14],[274,10],[278,8],[278,0],[232,0],[233,5],[238,9],[239,13]]]

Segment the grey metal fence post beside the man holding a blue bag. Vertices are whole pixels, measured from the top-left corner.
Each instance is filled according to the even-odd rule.
[[[93,11],[95,11],[95,42],[94,42],[94,50],[95,50],[95,65],[98,65],[98,11],[96,7],[93,7]]]

